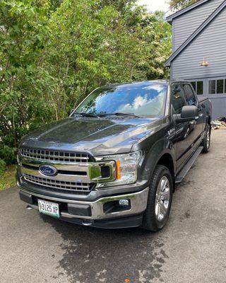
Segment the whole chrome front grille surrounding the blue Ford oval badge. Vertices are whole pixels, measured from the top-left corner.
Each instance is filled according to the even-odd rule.
[[[114,161],[97,163],[88,153],[23,146],[18,153],[18,163],[24,181],[49,190],[88,194],[97,183],[116,178]],[[56,169],[56,175],[40,171],[40,166],[48,165]]]

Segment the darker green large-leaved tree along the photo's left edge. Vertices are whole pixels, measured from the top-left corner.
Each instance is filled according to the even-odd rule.
[[[45,5],[29,2],[0,2],[0,146],[16,148],[28,129],[44,122],[48,108],[48,76],[37,65],[48,38],[47,16]]]

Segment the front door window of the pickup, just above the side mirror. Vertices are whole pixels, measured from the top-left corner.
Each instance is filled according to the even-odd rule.
[[[182,112],[182,107],[186,105],[184,93],[179,84],[172,85],[171,103],[173,114],[180,114]]]

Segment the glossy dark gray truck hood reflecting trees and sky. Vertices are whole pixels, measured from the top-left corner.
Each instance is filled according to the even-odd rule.
[[[21,146],[88,151],[94,156],[126,153],[159,125],[160,119],[149,118],[69,117],[31,132]]]

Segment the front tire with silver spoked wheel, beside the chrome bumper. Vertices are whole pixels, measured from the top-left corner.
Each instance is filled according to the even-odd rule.
[[[143,228],[157,232],[160,231],[169,218],[172,204],[173,182],[169,169],[157,165],[150,180],[148,204],[143,217]]]

